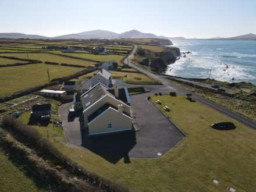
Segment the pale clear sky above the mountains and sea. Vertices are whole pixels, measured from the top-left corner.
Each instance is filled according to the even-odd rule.
[[[136,29],[167,37],[256,34],[256,0],[0,0],[0,33]]]

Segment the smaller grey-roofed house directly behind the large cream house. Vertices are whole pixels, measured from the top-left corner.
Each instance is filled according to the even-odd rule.
[[[112,73],[108,70],[101,69],[97,74],[91,77],[91,86],[101,83],[107,87],[112,87]]]

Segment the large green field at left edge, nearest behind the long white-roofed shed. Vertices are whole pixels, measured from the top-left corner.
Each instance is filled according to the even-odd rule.
[[[80,68],[59,65],[32,64],[0,68],[0,97],[17,91],[48,83],[47,69],[51,79],[79,72]]]

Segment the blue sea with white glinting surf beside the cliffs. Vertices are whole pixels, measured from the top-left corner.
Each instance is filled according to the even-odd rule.
[[[172,40],[181,52],[192,52],[168,66],[166,74],[256,84],[256,41]]]

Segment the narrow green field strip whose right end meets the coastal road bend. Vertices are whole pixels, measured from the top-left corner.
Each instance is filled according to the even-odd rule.
[[[94,55],[94,54],[76,54],[76,53],[62,53],[61,51],[55,51],[57,54],[76,56],[79,58],[93,59],[95,61],[116,61],[118,65],[123,65],[121,60],[124,56],[122,55]]]

